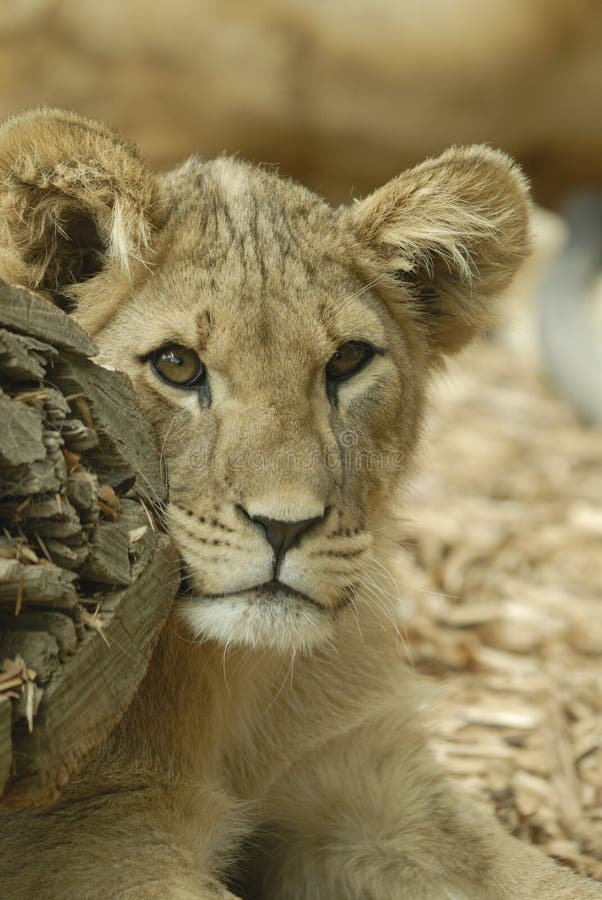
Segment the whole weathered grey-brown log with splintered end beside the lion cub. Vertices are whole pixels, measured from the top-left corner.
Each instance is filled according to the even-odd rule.
[[[95,352],[0,282],[2,806],[54,799],[119,721],[175,593],[159,454]]]

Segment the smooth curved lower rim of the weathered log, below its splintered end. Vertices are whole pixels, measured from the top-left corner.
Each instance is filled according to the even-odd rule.
[[[148,636],[158,635],[165,621],[168,604],[166,608],[165,602],[157,603],[155,598],[171,599],[170,574],[175,563],[171,543],[161,535],[135,583],[112,598],[115,611],[98,614],[99,633],[88,631],[65,663],[60,663],[54,637],[56,653],[51,659],[48,645],[38,643],[31,666],[37,665],[44,673],[48,686],[42,682],[44,693],[32,732],[28,732],[26,719],[13,728],[13,769],[2,806],[55,799],[122,717],[148,666],[153,646]],[[39,678],[38,670],[36,675]]]

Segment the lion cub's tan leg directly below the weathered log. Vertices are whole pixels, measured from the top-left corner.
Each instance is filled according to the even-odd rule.
[[[2,900],[236,900],[215,876],[237,829],[216,791],[131,787],[83,776],[54,806],[0,812]]]

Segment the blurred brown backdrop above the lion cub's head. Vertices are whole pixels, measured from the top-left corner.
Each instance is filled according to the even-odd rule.
[[[539,203],[602,180],[597,0],[3,0],[0,113],[112,122],[167,167],[226,150],[333,200],[450,143]]]

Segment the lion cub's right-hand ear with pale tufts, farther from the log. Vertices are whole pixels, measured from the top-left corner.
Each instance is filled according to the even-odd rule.
[[[518,166],[485,146],[452,147],[348,209],[360,269],[390,308],[417,311],[436,352],[495,322],[492,302],[529,250]]]

